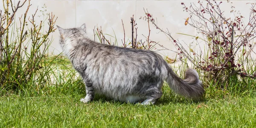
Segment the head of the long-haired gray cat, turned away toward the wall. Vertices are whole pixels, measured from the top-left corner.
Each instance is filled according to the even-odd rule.
[[[86,26],[81,25],[79,28],[68,28],[63,29],[57,25],[58,31],[60,32],[60,45],[64,53],[69,54],[70,49],[78,45],[86,37]]]

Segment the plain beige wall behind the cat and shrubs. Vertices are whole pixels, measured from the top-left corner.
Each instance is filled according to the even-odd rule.
[[[15,0],[16,3],[17,1],[18,0]],[[230,11],[231,3],[227,3],[227,0],[222,1],[224,2],[224,10]],[[230,1],[232,5],[244,15],[247,15],[249,12],[249,6],[246,5],[246,3],[256,2],[256,0]],[[148,8],[148,11],[153,14],[154,17],[157,17],[159,26],[168,28],[175,39],[189,44],[194,41],[194,38],[177,34],[186,33],[195,35],[196,33],[195,28],[184,25],[188,14],[183,12],[181,2],[188,5],[191,2],[197,3],[198,0],[32,0],[32,8],[29,14],[32,14],[37,6],[41,8],[45,4],[47,6],[47,12],[53,12],[53,14],[58,17],[56,25],[62,28],[72,28],[79,27],[83,23],[86,23],[87,33],[92,39],[94,26],[102,26],[104,33],[113,36],[115,33],[117,41],[121,45],[121,39],[123,39],[121,19],[124,22],[126,39],[131,39],[130,18],[133,14],[138,24],[138,39],[145,39],[142,34],[145,36],[148,35],[147,22],[140,19],[140,17],[145,15],[143,8]],[[26,9],[26,7],[22,9]],[[38,20],[40,20],[40,18],[38,18]],[[160,42],[161,45],[171,50],[176,50],[172,42],[169,42],[169,39],[163,33],[158,32],[158,30],[151,26],[151,39]],[[58,31],[55,31],[52,35],[54,41],[50,49],[55,54],[62,51],[58,44],[58,35]],[[168,50],[161,50],[159,53],[171,58],[176,56],[176,53]]]

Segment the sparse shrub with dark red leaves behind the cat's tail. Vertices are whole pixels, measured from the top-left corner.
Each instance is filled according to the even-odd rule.
[[[255,4],[248,3],[251,5],[249,18],[248,22],[244,22],[244,17],[233,6],[230,13],[235,17],[226,17],[221,3],[215,0],[198,1],[189,6],[181,3],[184,11],[190,15],[185,25],[196,28],[198,32],[197,36],[193,36],[197,49],[191,48],[192,44],[188,47],[182,45],[168,30],[164,31],[157,25],[152,14],[144,11],[146,19],[172,39],[178,47],[180,59],[188,59],[202,71],[206,85],[224,90],[254,88],[253,83],[247,83],[256,78],[256,63],[252,56],[255,55],[253,48],[256,46],[253,43],[256,36]],[[200,42],[205,45],[198,45]]]

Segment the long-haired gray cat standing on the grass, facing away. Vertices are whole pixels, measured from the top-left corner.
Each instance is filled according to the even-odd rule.
[[[193,69],[186,70],[181,79],[153,51],[94,42],[87,37],[85,24],[80,28],[57,27],[64,54],[84,80],[83,103],[93,100],[97,93],[128,103],[153,104],[163,95],[164,81],[184,97],[195,99],[204,95],[203,83]]]

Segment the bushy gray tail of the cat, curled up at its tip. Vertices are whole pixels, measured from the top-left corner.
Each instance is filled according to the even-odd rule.
[[[166,82],[169,87],[177,94],[187,98],[200,99],[203,97],[204,85],[199,80],[198,72],[194,69],[188,69],[185,72],[185,78],[181,79],[169,67],[168,78]]]

